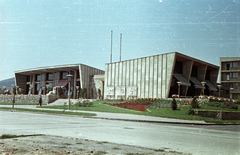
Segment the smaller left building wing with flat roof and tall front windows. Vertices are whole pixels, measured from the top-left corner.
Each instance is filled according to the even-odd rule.
[[[83,64],[60,65],[50,67],[39,67],[15,72],[15,84],[23,89],[23,94],[46,94],[53,91],[57,94],[59,87],[63,95],[68,94],[68,78],[66,75],[73,75],[70,82],[71,96],[77,98],[77,89],[87,88],[87,97],[91,97],[93,90],[94,98],[97,96],[94,75],[104,75],[104,71]]]

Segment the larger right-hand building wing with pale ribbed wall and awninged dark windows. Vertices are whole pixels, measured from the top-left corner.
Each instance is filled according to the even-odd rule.
[[[218,66],[177,52],[107,63],[104,98],[214,95],[218,71]]]

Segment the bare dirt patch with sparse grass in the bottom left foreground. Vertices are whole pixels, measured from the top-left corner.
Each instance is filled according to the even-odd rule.
[[[0,139],[0,152],[3,155],[182,154],[168,151],[167,148],[153,150],[130,145],[120,145],[108,142],[97,142],[87,139],[66,138],[50,135]]]

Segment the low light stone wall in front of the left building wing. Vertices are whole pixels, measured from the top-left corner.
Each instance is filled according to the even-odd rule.
[[[13,102],[14,95],[0,95],[0,102]],[[38,95],[15,95],[15,103],[38,103]],[[55,94],[42,95],[42,103],[48,104],[58,99]]]

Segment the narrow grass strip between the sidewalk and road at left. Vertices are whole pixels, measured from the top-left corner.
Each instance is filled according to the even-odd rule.
[[[81,113],[81,112],[71,112],[71,111],[36,110],[36,109],[8,108],[8,107],[0,107],[0,109],[11,110],[11,111],[15,110],[15,111],[24,111],[24,112],[57,114],[57,115],[96,116],[96,114],[94,113]]]

